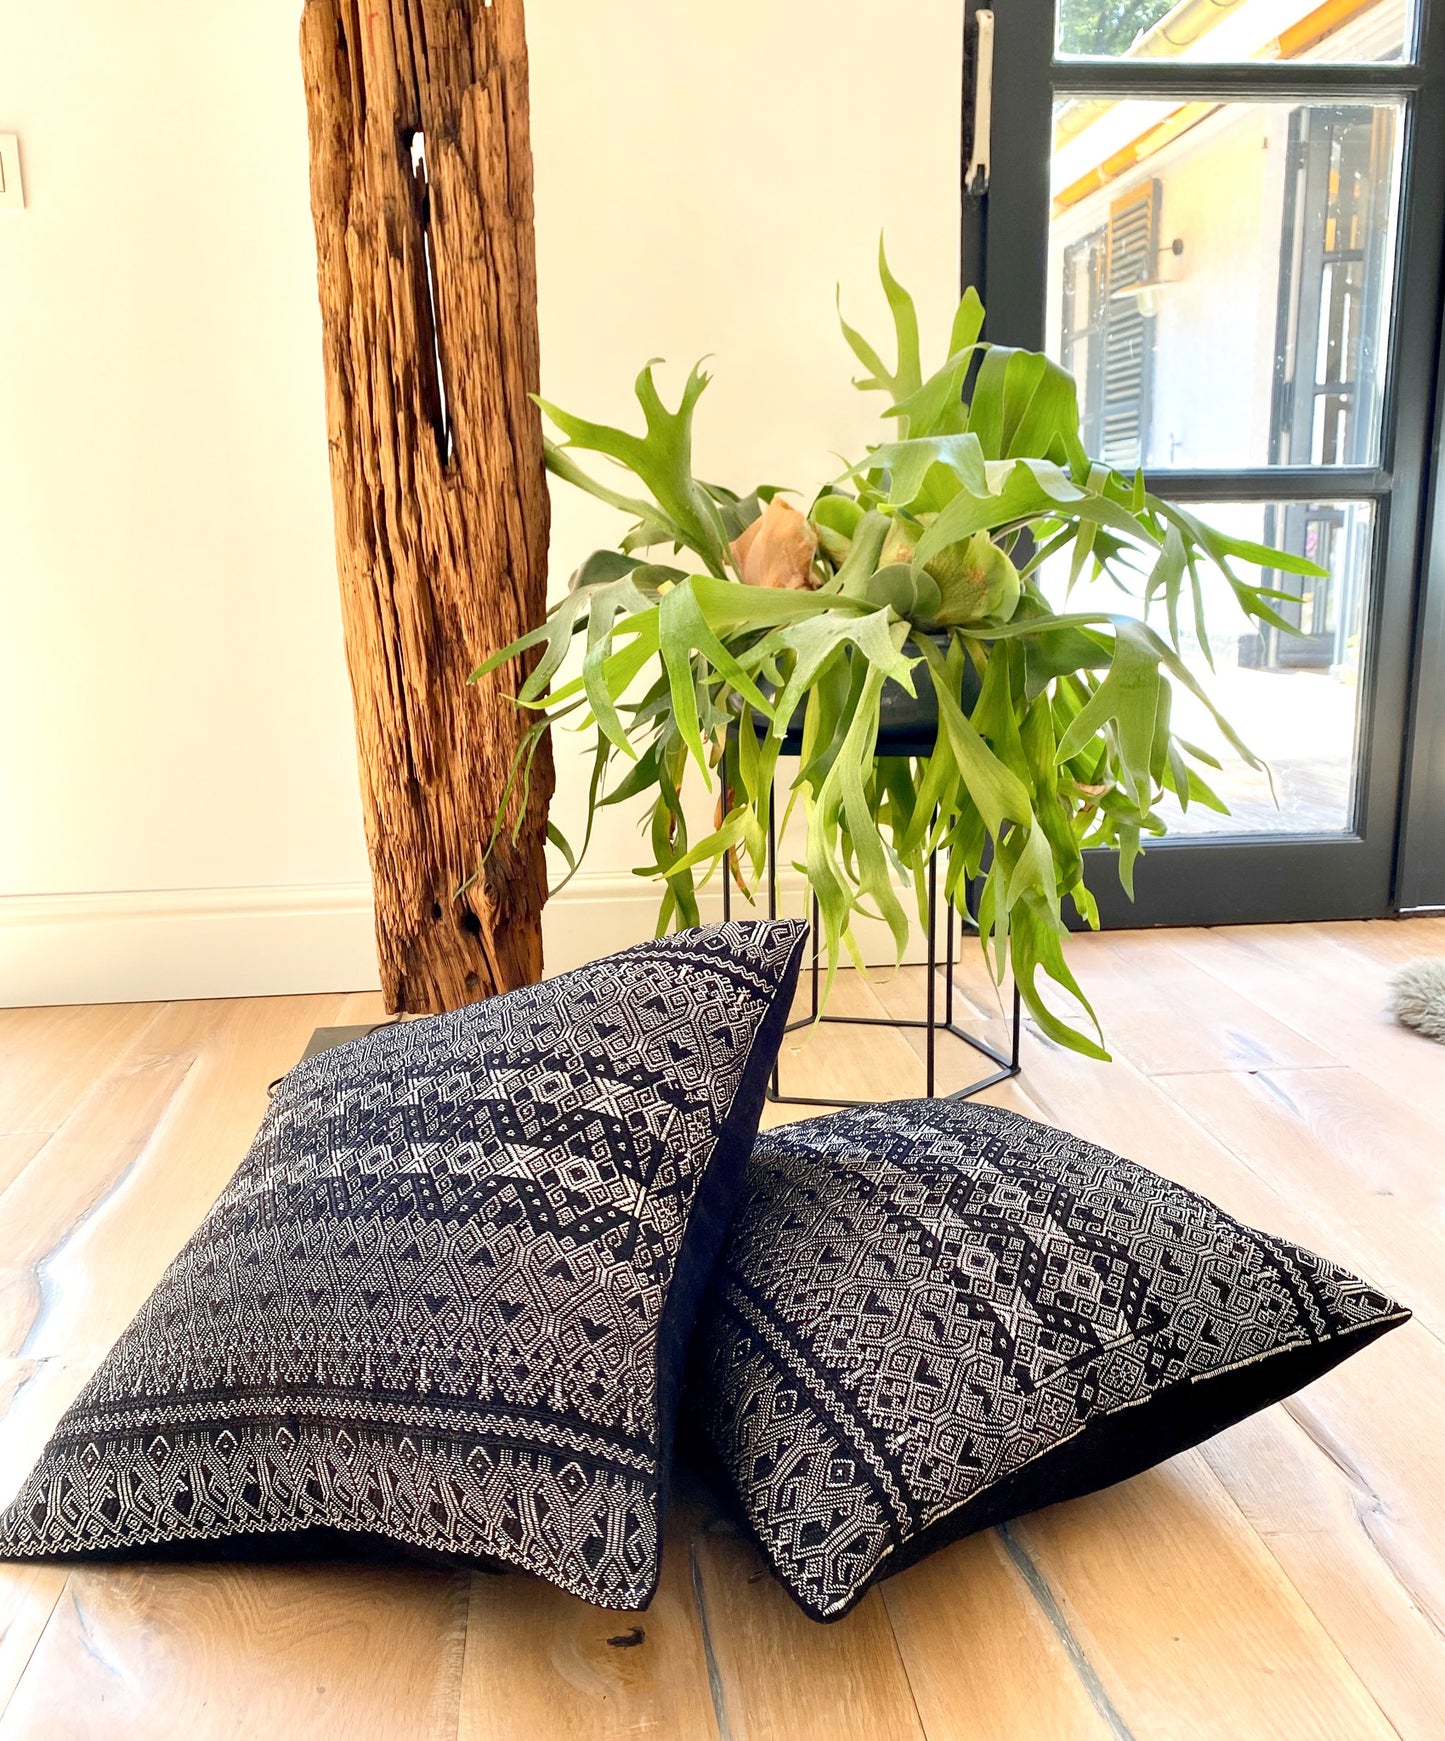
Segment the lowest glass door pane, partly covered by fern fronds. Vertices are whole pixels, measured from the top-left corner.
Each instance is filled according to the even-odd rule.
[[[1208,766],[1196,771],[1224,799],[1229,815],[1200,803],[1180,813],[1172,796],[1159,804],[1159,815],[1172,834],[1189,836],[1346,832],[1354,820],[1356,707],[1374,510],[1360,501],[1208,501],[1194,512],[1240,538],[1307,555],[1330,573],[1327,580],[1264,576],[1264,585],[1300,595],[1299,604],[1276,606],[1299,625],[1294,635],[1273,629],[1260,634],[1241,616],[1229,587],[1205,573],[1213,669],[1189,630],[1180,635],[1184,658],[1245,743],[1269,764],[1274,790],[1269,775],[1250,768],[1224,740],[1208,709],[1175,682],[1173,733],[1222,764],[1219,771]],[[1067,580],[1067,562],[1050,562],[1041,571],[1055,609],[1065,608]],[[1074,587],[1069,608],[1140,615],[1109,580]],[[1184,618],[1189,615],[1186,609]]]

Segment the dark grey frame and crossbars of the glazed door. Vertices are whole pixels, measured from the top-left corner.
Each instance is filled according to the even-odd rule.
[[[1445,676],[1445,498],[1435,491],[1436,583],[1424,609],[1426,510],[1436,456],[1445,252],[1445,0],[1419,0],[1417,59],[1398,64],[1206,64],[1055,61],[1053,5],[994,0],[989,190],[964,192],[963,282],[991,310],[999,345],[1046,345],[1052,103],[1055,96],[1219,101],[1398,97],[1403,103],[1395,320],[1386,350],[1379,467],[1151,472],[1179,501],[1370,501],[1375,510],[1367,656],[1360,674],[1354,825],[1344,834],[1253,834],[1154,841],[1135,867],[1135,900],[1114,851],[1086,855],[1106,926],[1375,918],[1429,879],[1445,883],[1445,696],[1421,702],[1422,672]],[[968,3],[968,59],[977,40]],[[966,80],[968,84],[968,68]],[[970,97],[964,92],[964,162]],[[1415,359],[1424,359],[1419,366]],[[1408,366],[1405,366],[1408,360]],[[1445,407],[1443,407],[1445,409]],[[1410,731],[1412,716],[1415,721]],[[1407,745],[1408,851],[1401,857]],[[1424,867],[1424,869],[1422,869]],[[1435,900],[1445,904],[1445,886]],[[1419,904],[1419,902],[1408,902]]]

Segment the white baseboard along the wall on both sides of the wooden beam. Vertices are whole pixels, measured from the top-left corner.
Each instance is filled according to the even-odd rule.
[[[721,886],[703,890],[700,905],[703,923],[721,919]],[[782,879],[780,907],[806,914],[797,872]],[[761,918],[766,905],[736,900],[733,912]],[[656,883],[583,872],[547,904],[547,971],[566,973],[642,942],[653,935],[656,914]],[[891,965],[886,928],[857,930],[869,965]],[[905,959],[923,959],[921,938],[914,937]],[[369,883],[0,897],[3,1008],[275,998],[376,985]]]

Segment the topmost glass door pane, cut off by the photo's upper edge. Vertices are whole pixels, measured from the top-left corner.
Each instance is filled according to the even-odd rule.
[[[1401,61],[1410,0],[1059,0],[1060,59]]]

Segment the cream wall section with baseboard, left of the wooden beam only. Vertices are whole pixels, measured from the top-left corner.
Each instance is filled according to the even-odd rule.
[[[294,0],[0,0],[0,996],[366,984]]]

